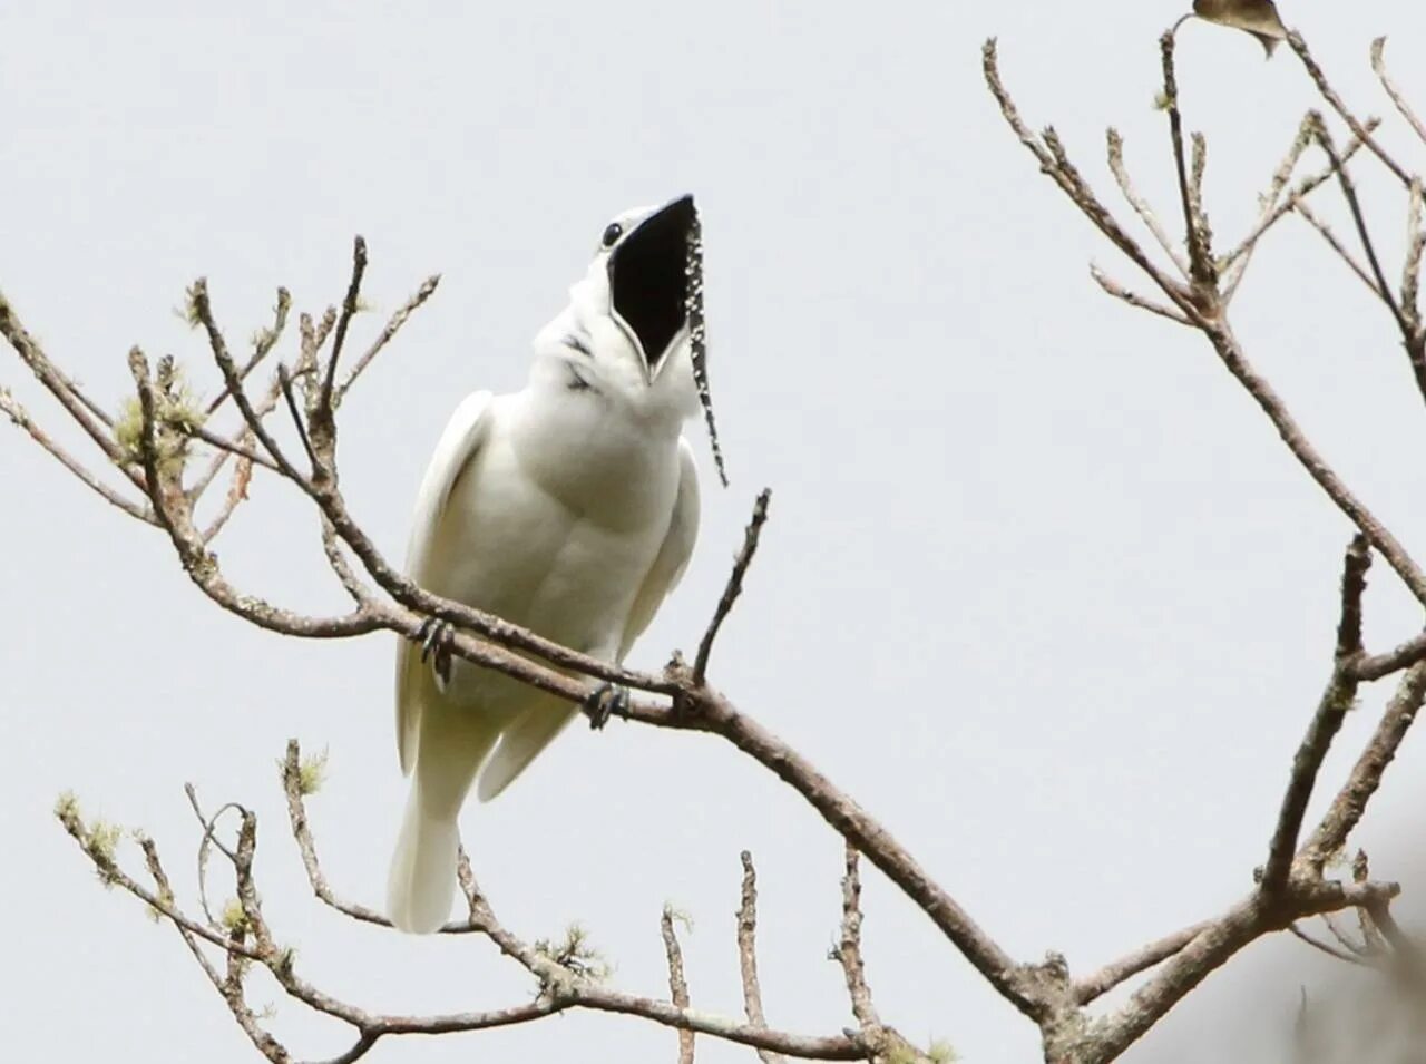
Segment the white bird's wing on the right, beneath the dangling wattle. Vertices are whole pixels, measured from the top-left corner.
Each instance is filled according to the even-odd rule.
[[[619,640],[619,658],[623,660],[633,640],[649,626],[653,615],[663,605],[665,596],[673,590],[693,553],[693,541],[699,535],[699,474],[693,462],[693,448],[689,441],[679,441],[679,493],[673,502],[673,516],[669,531],[663,535],[659,553],[649,566],[639,593],[625,622]],[[495,747],[491,760],[481,769],[476,794],[481,802],[499,796],[515,779],[529,767],[540,750],[553,742],[565,726],[575,719],[578,709],[562,699],[542,695],[529,709],[505,729],[501,745]]]

